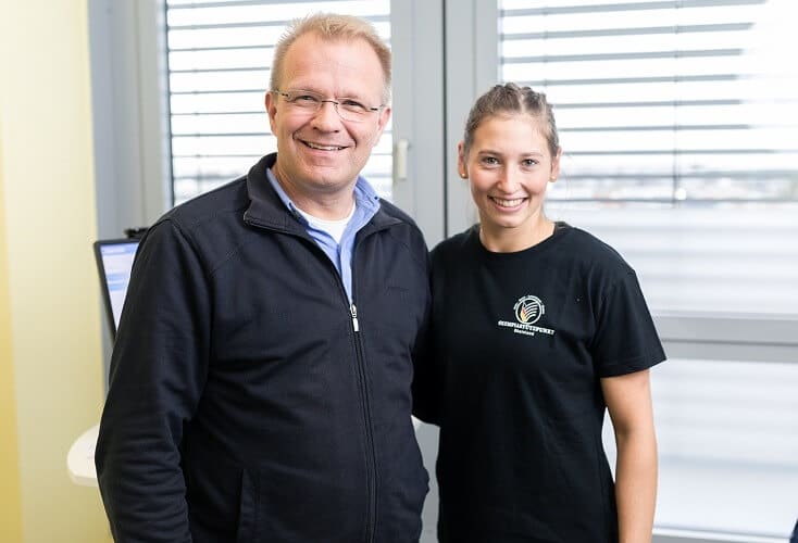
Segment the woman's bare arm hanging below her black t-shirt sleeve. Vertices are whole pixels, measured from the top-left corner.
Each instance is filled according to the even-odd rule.
[[[657,501],[657,437],[649,370],[601,379],[615,430],[620,543],[650,543]]]

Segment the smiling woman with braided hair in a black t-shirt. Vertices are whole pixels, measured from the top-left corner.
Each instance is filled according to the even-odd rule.
[[[433,260],[434,361],[416,414],[440,425],[441,542],[649,542],[664,359],[634,270],[549,219],[561,149],[543,93],[497,85],[458,146],[479,224]],[[616,481],[601,442],[609,411]]]

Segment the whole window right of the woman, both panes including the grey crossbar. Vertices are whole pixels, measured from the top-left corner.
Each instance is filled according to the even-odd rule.
[[[784,541],[798,515],[790,8],[498,1],[498,78],[554,106],[549,214],[635,267],[670,356],[652,371],[662,535]]]

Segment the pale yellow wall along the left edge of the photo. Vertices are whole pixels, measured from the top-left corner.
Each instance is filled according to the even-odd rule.
[[[107,542],[66,472],[102,405],[87,0],[1,5],[0,540]]]

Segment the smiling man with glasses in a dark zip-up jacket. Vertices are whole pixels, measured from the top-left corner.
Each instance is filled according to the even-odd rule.
[[[371,25],[296,23],[265,96],[277,153],[148,230],[96,454],[117,541],[419,540],[426,247],[359,176],[389,87]]]

